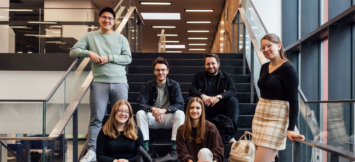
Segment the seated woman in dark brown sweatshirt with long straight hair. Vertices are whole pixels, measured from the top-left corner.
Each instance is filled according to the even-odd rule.
[[[194,97],[186,108],[185,123],[176,133],[180,162],[223,162],[222,139],[213,123],[205,120],[202,100]]]

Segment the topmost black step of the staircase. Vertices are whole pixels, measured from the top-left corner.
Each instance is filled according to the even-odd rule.
[[[203,59],[208,53],[132,53],[132,59]],[[242,53],[217,53],[219,59],[243,59]]]

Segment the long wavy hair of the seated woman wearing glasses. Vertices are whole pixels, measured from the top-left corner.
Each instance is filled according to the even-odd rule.
[[[128,120],[126,121],[126,126],[125,126],[125,130],[123,131],[123,133],[125,134],[125,136],[127,138],[137,140],[138,131],[137,131],[137,125],[133,119],[132,106],[126,100],[119,100],[118,102],[115,103],[115,105],[113,105],[112,110],[111,110],[111,115],[110,115],[108,121],[102,127],[102,130],[104,131],[105,135],[108,135],[111,138],[117,138],[118,136],[120,136],[120,131],[118,131],[118,126],[117,126],[117,121],[116,121],[115,115],[118,112],[118,108],[124,104],[128,106],[129,111],[130,111],[130,115],[128,117]]]

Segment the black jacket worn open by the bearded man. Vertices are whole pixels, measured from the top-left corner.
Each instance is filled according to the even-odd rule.
[[[193,78],[192,85],[189,89],[190,96],[201,97],[201,95],[206,92],[208,89],[207,75],[206,71],[195,74],[195,78]],[[218,69],[217,75],[217,92],[222,95],[222,100],[228,100],[230,97],[235,97],[235,85],[230,74],[224,73],[222,70]]]

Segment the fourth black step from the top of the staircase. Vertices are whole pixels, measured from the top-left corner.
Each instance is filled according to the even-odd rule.
[[[148,82],[151,81],[155,78],[155,75],[153,74],[153,71],[151,74],[126,74],[127,75],[127,80],[128,82]],[[234,83],[250,83],[250,74],[239,74],[231,75],[233,78]],[[167,75],[169,79],[172,79],[174,81],[177,81],[178,83],[191,83],[193,80],[193,77],[195,77],[195,74],[174,74],[170,73]]]

